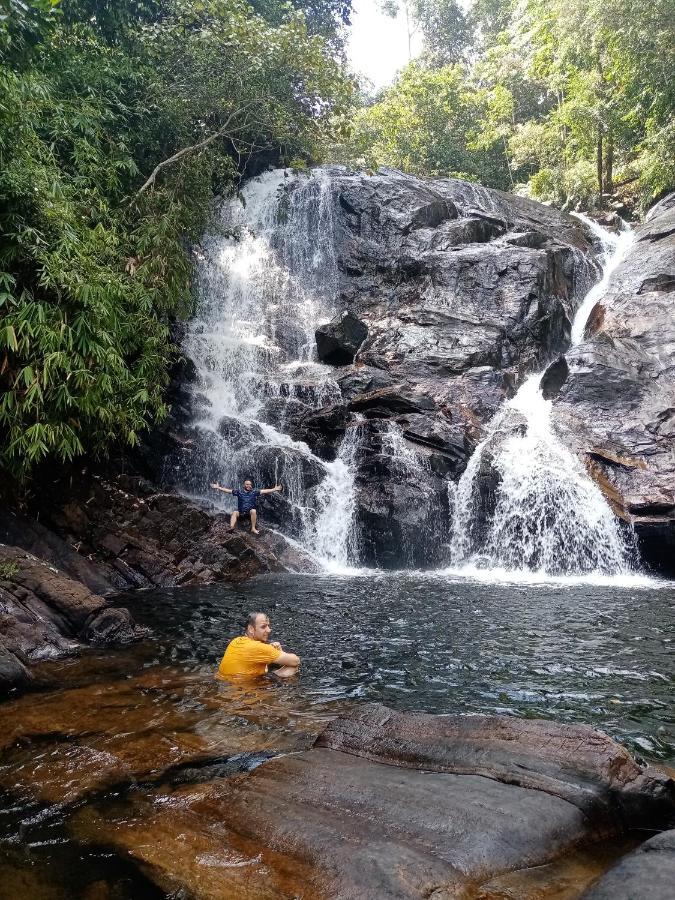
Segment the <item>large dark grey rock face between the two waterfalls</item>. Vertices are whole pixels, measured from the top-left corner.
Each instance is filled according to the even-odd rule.
[[[329,361],[342,364],[342,404],[291,431],[330,458],[345,427],[365,423],[362,560],[437,565],[447,557],[448,479],[523,377],[566,349],[598,269],[579,223],[541,204],[394,170],[328,176],[341,311],[317,341],[328,360],[330,338]],[[362,323],[353,339],[347,322]]]

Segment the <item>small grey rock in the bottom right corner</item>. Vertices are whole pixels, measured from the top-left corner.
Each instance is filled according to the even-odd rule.
[[[584,900],[672,900],[675,885],[675,831],[657,834],[625,856]]]

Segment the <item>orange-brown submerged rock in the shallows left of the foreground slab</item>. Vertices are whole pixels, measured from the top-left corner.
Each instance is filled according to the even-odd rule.
[[[306,749],[325,722],[325,712],[309,707],[299,726],[297,706],[284,706],[264,684],[239,689],[211,673],[195,678],[156,665],[137,674],[137,664],[120,651],[105,680],[100,659],[38,667],[43,687],[56,680],[58,689],[0,704],[0,787],[64,804],[130,784],[217,779],[272,753]]]

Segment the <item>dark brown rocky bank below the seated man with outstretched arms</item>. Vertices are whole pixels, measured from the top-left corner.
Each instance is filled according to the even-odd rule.
[[[107,593],[310,567],[278,535],[253,538],[242,528],[230,533],[229,516],[136,476],[82,478],[65,496],[44,499],[41,514],[51,531],[7,513],[0,539],[41,546],[49,561]]]

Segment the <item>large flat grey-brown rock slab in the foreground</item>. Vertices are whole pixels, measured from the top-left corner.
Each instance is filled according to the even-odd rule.
[[[674,819],[672,780],[589,728],[368,705],[309,751],[88,811],[78,830],[197,897],[534,900],[580,897],[602,872],[580,853]],[[533,885],[533,867],[562,877],[568,861],[564,893]]]

